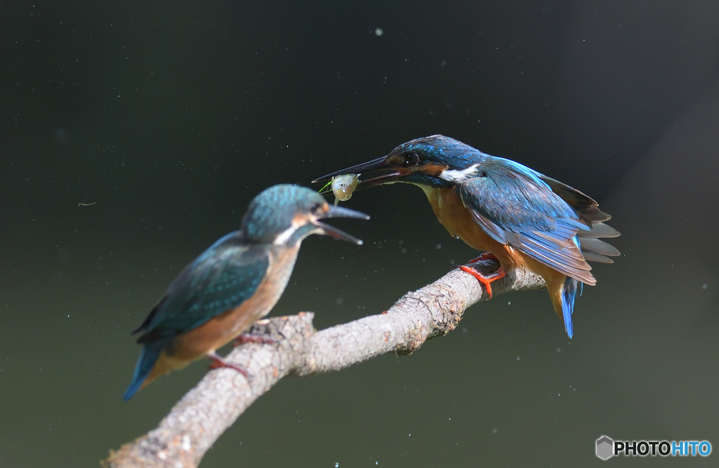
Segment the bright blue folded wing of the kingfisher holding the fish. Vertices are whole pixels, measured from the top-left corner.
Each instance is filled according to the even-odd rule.
[[[577,238],[577,231],[590,226],[541,177],[517,162],[493,157],[460,185],[459,195],[497,242],[593,285]]]

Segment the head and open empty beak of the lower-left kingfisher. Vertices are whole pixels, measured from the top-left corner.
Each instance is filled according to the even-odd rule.
[[[245,239],[265,244],[296,244],[310,234],[362,244],[356,237],[319,221],[324,218],[370,219],[370,216],[330,206],[309,188],[282,184],[265,189],[249,203],[240,229]]]

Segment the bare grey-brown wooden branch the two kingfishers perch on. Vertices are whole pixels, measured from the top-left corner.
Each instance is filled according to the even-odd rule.
[[[490,273],[494,260],[473,265]],[[544,288],[529,272],[512,272],[492,283],[494,295]],[[420,290],[403,295],[383,313],[314,331],[312,313],[275,317],[252,327],[252,334],[270,336],[273,344],[245,344],[227,359],[249,370],[208,372],[157,428],[111,451],[106,467],[196,467],[207,450],[245,409],[285,375],[334,372],[380,354],[411,354],[429,338],[457,327],[464,311],[486,295],[475,277],[451,272]]]

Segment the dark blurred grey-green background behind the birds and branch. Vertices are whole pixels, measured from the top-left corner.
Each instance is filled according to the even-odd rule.
[[[122,401],[129,332],[180,269],[263,188],[436,133],[613,215],[623,255],[574,339],[546,291],[498,296],[412,356],[283,380],[203,466],[719,450],[716,1],[8,1],[0,30],[1,466],[92,466],[155,427],[208,364]],[[344,206],[372,216],[333,221],[365,245],[308,239],[273,315],[380,313],[476,256],[411,185]]]

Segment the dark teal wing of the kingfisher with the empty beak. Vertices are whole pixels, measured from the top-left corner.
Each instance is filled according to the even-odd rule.
[[[185,333],[250,298],[270,268],[265,249],[227,234],[180,272],[133,334],[138,343]]]

